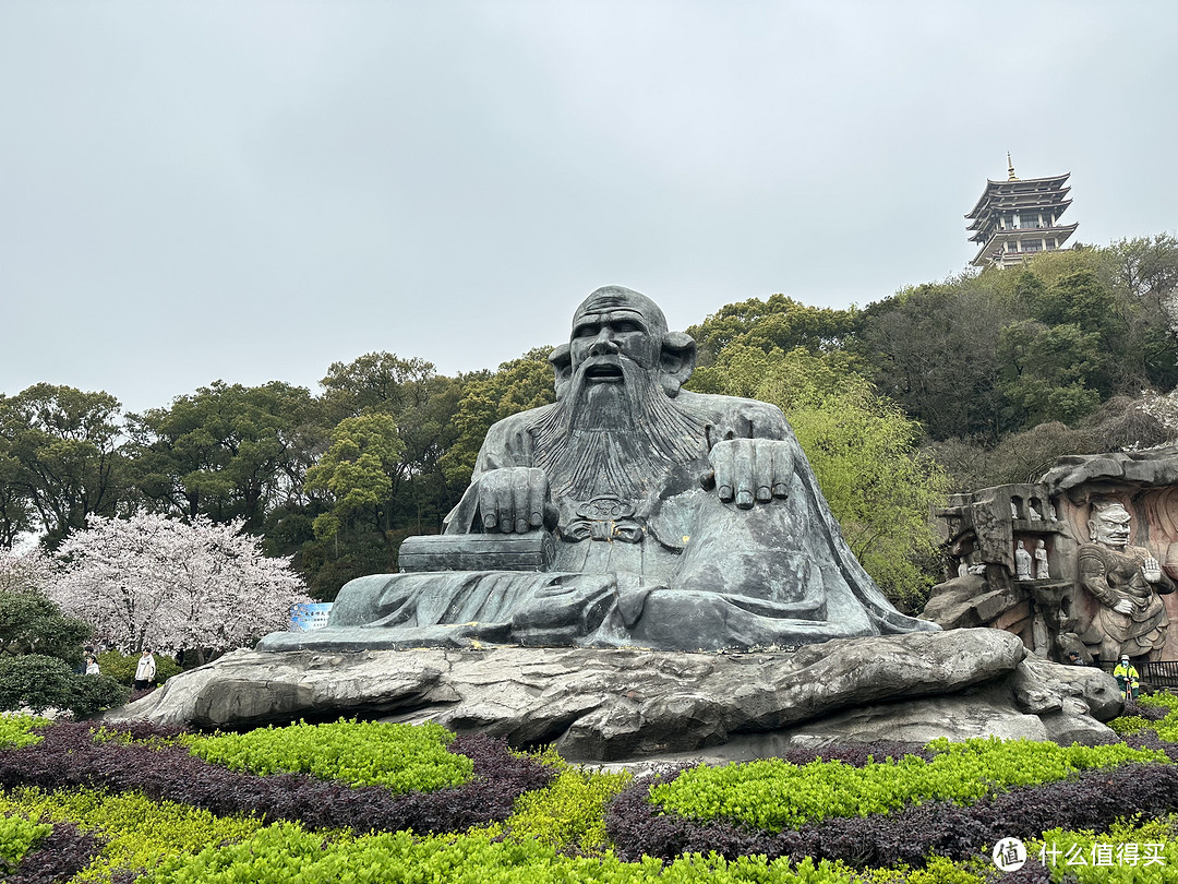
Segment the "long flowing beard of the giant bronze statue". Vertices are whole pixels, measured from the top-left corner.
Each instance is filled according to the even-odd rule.
[[[704,454],[704,423],[622,358],[622,383],[587,383],[584,367],[535,427],[536,466],[556,497],[608,495],[637,502],[668,469]]]

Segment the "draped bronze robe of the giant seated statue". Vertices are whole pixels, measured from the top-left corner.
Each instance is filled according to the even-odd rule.
[[[429,572],[348,583],[327,628],[274,633],[263,649],[465,645],[638,646],[668,649],[800,645],[854,635],[937,629],[896,612],[847,547],[781,411],[752,400],[683,391],[675,400],[700,431],[695,454],[610,494],[557,495],[551,570]],[[482,530],[478,479],[541,467],[540,428],[556,405],[495,424],[448,534]],[[548,421],[550,423],[550,420]],[[785,500],[739,509],[706,492],[709,444],[780,440],[793,471]],[[686,440],[684,440],[686,441]],[[561,476],[549,475],[554,487]],[[633,477],[631,477],[633,479]],[[621,484],[621,481],[615,481]]]

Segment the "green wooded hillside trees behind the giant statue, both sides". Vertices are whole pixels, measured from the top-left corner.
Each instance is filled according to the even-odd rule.
[[[779,404],[868,569],[905,595],[939,576],[920,514],[944,492],[1178,437],[1176,328],[1178,238],[1162,233],[862,308],[721,305],[688,330],[689,388]],[[0,548],[34,534],[52,550],[93,516],[240,525],[330,600],[395,569],[404,536],[442,530],[491,424],[555,400],[549,352],[456,376],[368,352],[332,363],[317,392],[214,381],[138,415],[47,383],[0,396]]]

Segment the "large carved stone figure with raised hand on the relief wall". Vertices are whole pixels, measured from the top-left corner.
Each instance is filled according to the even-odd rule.
[[[1144,547],[1129,546],[1131,516],[1116,501],[1093,501],[1088,519],[1092,542],[1079,548],[1080,585],[1100,602],[1091,622],[1077,631],[1096,645],[1101,660],[1121,654],[1157,659],[1170,618],[1158,593],[1174,585]]]

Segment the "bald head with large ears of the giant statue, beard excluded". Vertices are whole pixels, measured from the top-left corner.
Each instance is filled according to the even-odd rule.
[[[549,359],[556,392],[574,385],[626,384],[644,372],[668,396],[676,396],[695,370],[695,342],[667,330],[667,318],[650,298],[620,285],[597,289],[573,315],[569,343]]]

